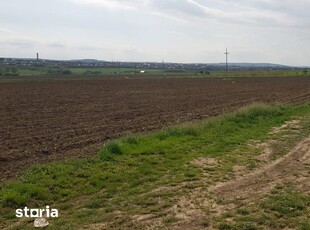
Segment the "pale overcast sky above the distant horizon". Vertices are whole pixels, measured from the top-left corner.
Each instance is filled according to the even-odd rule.
[[[310,0],[0,0],[0,57],[310,66]]]

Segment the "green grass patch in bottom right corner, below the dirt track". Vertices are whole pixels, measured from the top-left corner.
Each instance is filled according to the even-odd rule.
[[[310,229],[310,195],[284,184],[272,190],[257,204],[229,213],[232,221],[221,221],[220,229]],[[227,213],[222,215],[227,218]]]

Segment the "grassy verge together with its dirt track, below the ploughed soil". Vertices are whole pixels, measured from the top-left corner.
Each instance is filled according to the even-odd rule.
[[[0,227],[49,204],[49,229],[309,229],[309,115],[256,103],[33,166],[0,189]]]

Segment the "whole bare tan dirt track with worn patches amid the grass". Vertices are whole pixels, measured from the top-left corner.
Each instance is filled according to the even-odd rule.
[[[301,132],[300,120],[290,120],[282,126],[274,127],[269,135],[284,135],[287,130]],[[226,182],[217,182],[206,188],[195,188],[190,193],[178,199],[178,202],[167,213],[177,218],[177,222],[169,229],[213,229],[213,219],[224,212],[235,210],[235,202],[245,204],[257,203],[277,185],[291,182],[299,191],[310,192],[310,136],[295,145],[286,155],[272,160],[271,144],[276,140],[264,143],[255,143],[251,146],[261,147],[262,164],[252,170],[236,165],[232,179]],[[209,158],[197,158],[192,164],[205,167],[216,165],[219,162]],[[205,178],[201,179],[204,182]],[[207,182],[206,182],[207,183]],[[218,203],[220,201],[221,204]],[[159,222],[159,219],[156,220]],[[229,219],[226,219],[229,221]],[[158,224],[158,223],[157,223]],[[146,223],[150,229],[152,223]]]

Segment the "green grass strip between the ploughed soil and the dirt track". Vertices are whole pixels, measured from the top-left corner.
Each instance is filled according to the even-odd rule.
[[[248,146],[249,141],[263,141],[272,127],[293,116],[309,114],[309,104],[255,104],[200,123],[113,140],[96,157],[33,166],[20,179],[2,184],[0,227],[16,222],[16,208],[45,205],[60,212],[61,218],[51,220],[51,229],[101,222],[108,222],[111,228],[133,228],[131,217],[143,214],[162,217],[165,224],[172,224],[178,219],[166,210],[178,197],[196,187],[207,188],[229,179],[234,165],[256,167],[254,156],[259,152]],[[191,163],[199,157],[221,163],[201,168]],[[201,183],[206,172],[209,182]],[[304,205],[303,196],[298,199]],[[269,204],[262,203],[261,208],[277,212]],[[250,214],[239,210],[236,215]],[[240,229],[251,229],[247,223]],[[230,229],[229,225],[223,222],[219,228]],[[30,229],[31,223],[22,222],[20,227]]]

